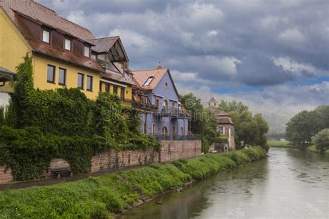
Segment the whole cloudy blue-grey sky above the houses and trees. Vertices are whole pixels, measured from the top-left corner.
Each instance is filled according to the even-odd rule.
[[[169,67],[180,94],[241,100],[282,132],[329,104],[328,0],[38,0],[96,37],[119,35],[130,69]]]

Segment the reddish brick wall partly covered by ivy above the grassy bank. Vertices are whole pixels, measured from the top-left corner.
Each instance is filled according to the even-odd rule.
[[[187,159],[201,155],[201,141],[161,141],[159,152],[149,148],[147,150],[125,150],[115,152],[108,150],[92,158],[91,173],[117,170],[129,166],[143,166],[151,163],[163,163],[176,159]],[[54,158],[50,168],[66,167],[69,163],[64,159]],[[10,168],[5,173],[5,167],[0,166],[0,184],[12,182]]]

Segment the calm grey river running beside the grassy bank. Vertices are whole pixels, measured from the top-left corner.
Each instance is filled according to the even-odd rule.
[[[268,155],[120,218],[329,218],[329,156],[285,148]]]

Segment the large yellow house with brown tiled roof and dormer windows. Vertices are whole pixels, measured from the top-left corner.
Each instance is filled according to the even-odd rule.
[[[110,92],[131,100],[133,80],[125,73],[128,58],[119,37],[104,44],[104,38],[95,39],[90,30],[32,0],[1,0],[0,24],[0,67],[15,72],[30,53],[35,88],[79,88],[95,99],[110,84]],[[8,83],[0,87],[9,91]]]

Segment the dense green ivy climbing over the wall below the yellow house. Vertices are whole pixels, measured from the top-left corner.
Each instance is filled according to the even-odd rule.
[[[67,160],[74,173],[87,173],[92,157],[104,150],[160,148],[116,96],[101,93],[94,101],[79,89],[34,89],[29,55],[17,76],[0,127],[0,166],[10,167],[16,180],[40,178],[55,157]]]

